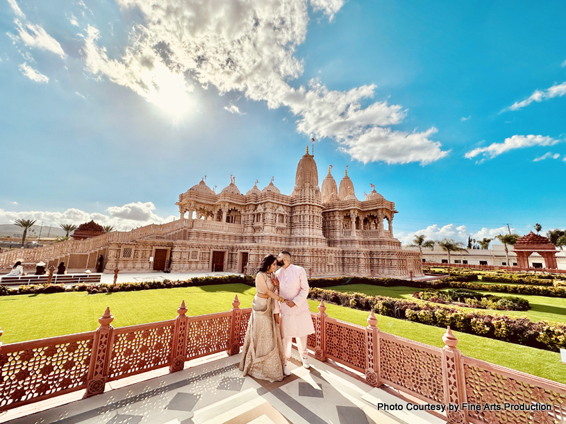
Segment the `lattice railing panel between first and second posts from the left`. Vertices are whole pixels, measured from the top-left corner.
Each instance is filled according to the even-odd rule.
[[[123,333],[120,332],[122,329],[116,329],[108,380],[116,380],[169,364],[173,328],[174,324],[167,323]]]

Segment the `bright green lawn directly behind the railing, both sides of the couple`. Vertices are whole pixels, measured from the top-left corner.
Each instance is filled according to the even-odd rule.
[[[339,287],[353,290],[354,286]],[[385,289],[388,296],[401,297],[399,287],[374,287]],[[413,289],[403,287],[413,293]],[[361,291],[360,288],[356,291]],[[0,297],[0,327],[4,334],[0,341],[17,341],[53,337],[74,332],[94,330],[98,318],[106,306],[115,316],[113,325],[122,327],[153,321],[173,319],[181,300],[189,309],[189,315],[222,312],[231,308],[234,295],[238,294],[240,307],[250,307],[255,289],[244,285],[216,285],[185,287],[147,291],[128,291],[113,294],[88,295],[81,293],[57,293]],[[381,294],[385,294],[382,292]],[[309,300],[310,309],[317,312],[318,302]],[[367,325],[368,313],[357,309],[327,305],[326,313],[333,318],[359,325]],[[378,327],[384,332],[396,334],[432,346],[442,347],[444,329],[377,316]],[[464,355],[507,366],[542,378],[566,383],[566,366],[561,364],[558,353],[526,346],[454,332]]]

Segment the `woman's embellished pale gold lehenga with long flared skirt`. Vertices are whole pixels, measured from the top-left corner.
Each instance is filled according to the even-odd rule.
[[[276,287],[267,278],[267,289],[275,291]],[[257,287],[259,294],[263,294]],[[269,382],[283,380],[283,342],[279,325],[273,317],[275,300],[272,298],[260,298],[257,294],[253,297],[251,304],[251,315],[249,316],[248,328],[242,348],[242,359],[240,370],[244,375],[251,375],[260,380]]]

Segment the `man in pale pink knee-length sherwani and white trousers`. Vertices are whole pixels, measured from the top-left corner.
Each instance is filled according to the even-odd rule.
[[[285,355],[285,368],[283,373],[290,375],[288,361],[291,357],[293,337],[297,341],[297,348],[303,366],[309,368],[306,340],[308,334],[315,332],[313,319],[308,309],[308,281],[306,272],[301,266],[291,263],[291,255],[287,251],[279,253],[277,264],[281,266],[276,271],[279,280],[279,296],[288,299],[281,303],[281,332],[283,333],[283,353]]]

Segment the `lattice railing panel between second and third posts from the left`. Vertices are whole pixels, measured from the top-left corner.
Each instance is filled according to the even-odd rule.
[[[231,321],[231,312],[190,320],[187,325],[187,359],[227,350],[230,346]]]

